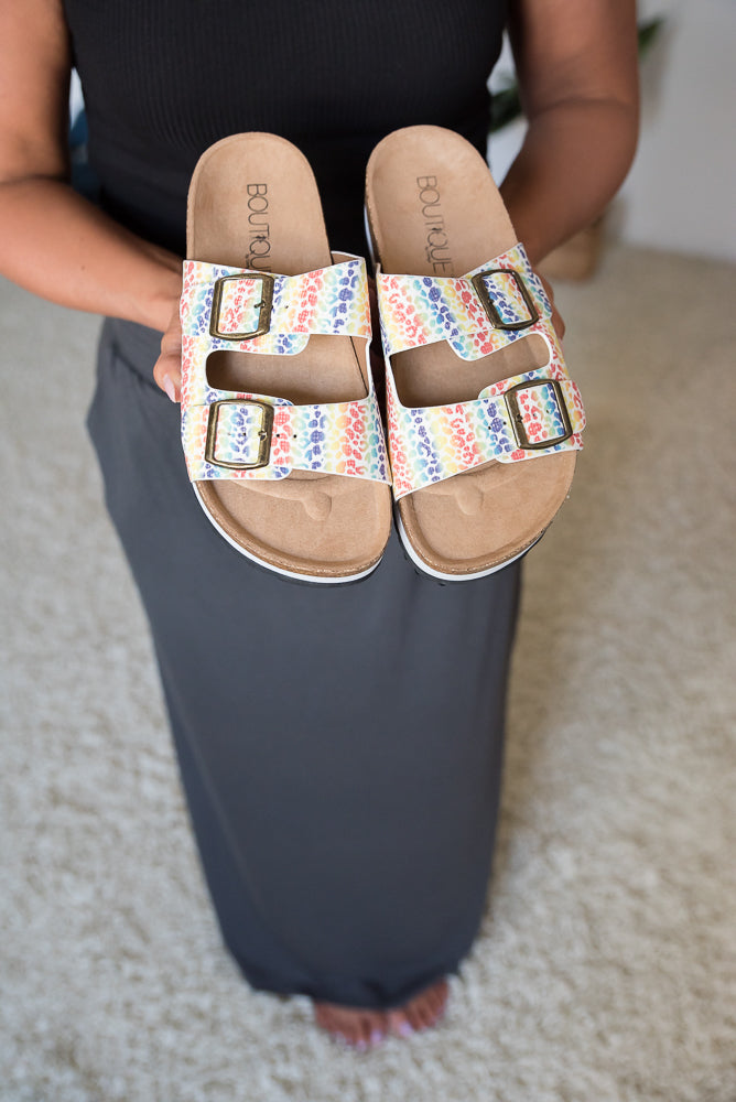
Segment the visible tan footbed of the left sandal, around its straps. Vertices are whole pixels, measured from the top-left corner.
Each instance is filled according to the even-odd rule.
[[[273,134],[235,134],[203,154],[186,234],[188,257],[209,263],[296,276],[333,262],[310,164]],[[366,344],[315,334],[295,356],[218,350],[207,379],[295,404],[353,401],[369,391]],[[196,488],[232,542],[285,573],[349,580],[369,571],[388,541],[390,490],[379,483],[293,471],[275,482],[221,478]]]

